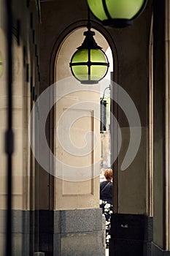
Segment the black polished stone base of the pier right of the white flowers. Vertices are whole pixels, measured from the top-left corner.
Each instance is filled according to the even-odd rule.
[[[151,244],[152,217],[112,214],[109,256],[151,256]]]

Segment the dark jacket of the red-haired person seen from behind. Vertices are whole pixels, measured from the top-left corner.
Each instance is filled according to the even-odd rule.
[[[100,199],[112,201],[112,181],[102,181],[100,184]]]

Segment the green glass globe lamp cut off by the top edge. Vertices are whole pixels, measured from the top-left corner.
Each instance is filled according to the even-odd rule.
[[[147,5],[147,0],[87,0],[93,15],[104,26],[131,26]]]

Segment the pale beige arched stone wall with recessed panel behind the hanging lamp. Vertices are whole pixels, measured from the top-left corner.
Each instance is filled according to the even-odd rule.
[[[84,39],[82,34],[85,30],[85,28],[79,28],[72,31],[62,39],[58,46],[58,52],[55,52],[54,151],[57,160],[55,162],[54,208],[55,211],[64,211],[65,215],[68,211],[70,214],[75,214],[75,219],[73,218],[72,222],[77,222],[82,215],[90,213],[93,218],[86,219],[87,223],[90,221],[94,225],[97,222],[102,230],[102,216],[99,208],[100,99],[103,97],[104,90],[109,87],[110,74],[108,73],[107,78],[101,80],[100,83],[90,86],[82,85],[72,77],[69,62],[76,48],[81,45]],[[96,42],[106,51],[109,48],[107,40],[96,29],[95,32]],[[112,69],[112,56],[109,57],[109,61]],[[109,91],[106,91],[106,96],[109,99]],[[109,132],[109,124],[107,127],[107,132]],[[97,213],[97,217],[94,216],[94,212]],[[100,232],[103,232],[101,230]],[[88,236],[93,236],[93,239],[96,239],[96,232],[98,231],[95,230],[94,234],[94,230],[92,232],[89,229]],[[85,242],[83,241],[83,246],[85,246]],[[95,252],[91,252],[91,255],[100,254],[101,252],[98,250],[104,243],[104,236],[94,242],[93,246],[98,248]],[[74,246],[73,241],[72,246]],[[87,246],[89,248],[89,241]],[[104,249],[104,246],[102,248]]]

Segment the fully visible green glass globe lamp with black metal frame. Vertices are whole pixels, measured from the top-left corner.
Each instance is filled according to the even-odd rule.
[[[109,61],[102,48],[97,45],[91,31],[90,16],[88,11],[88,31],[84,32],[85,39],[82,45],[73,54],[69,66],[72,75],[83,84],[98,83],[107,75]]]

